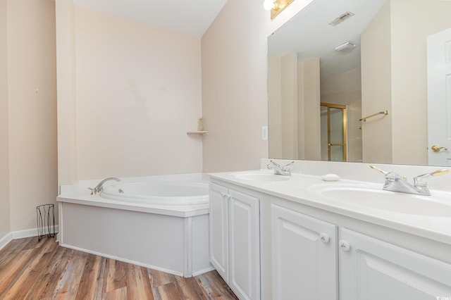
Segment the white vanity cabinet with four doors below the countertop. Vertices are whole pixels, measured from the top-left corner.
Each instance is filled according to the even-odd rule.
[[[451,299],[451,244],[434,232],[280,190],[210,182],[211,263],[240,299]]]

